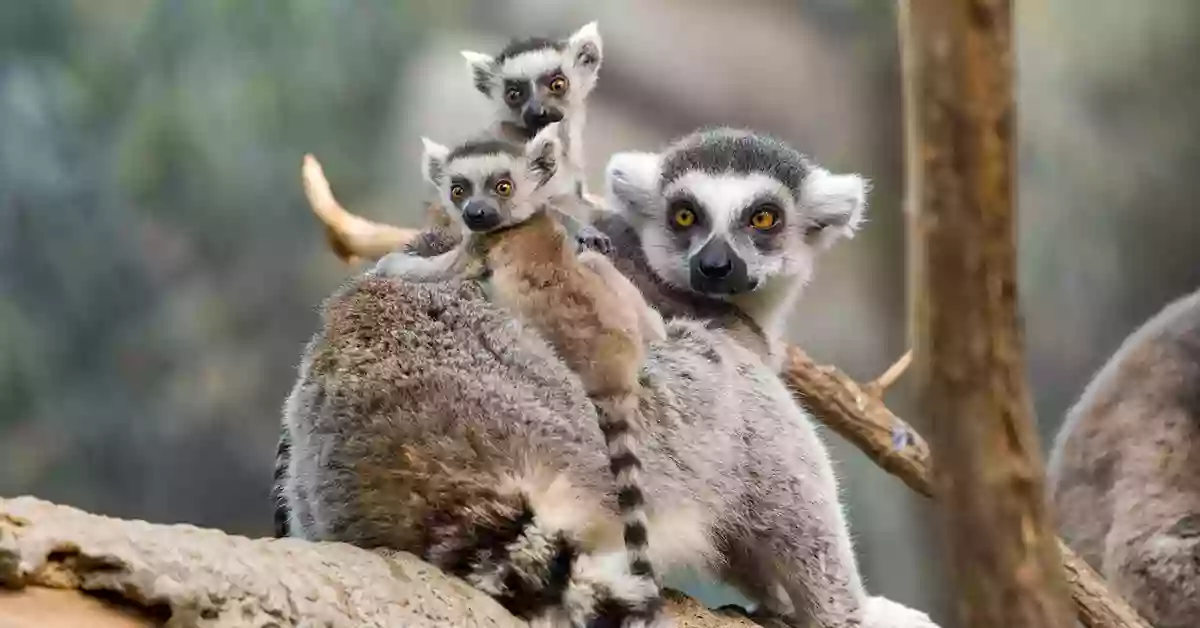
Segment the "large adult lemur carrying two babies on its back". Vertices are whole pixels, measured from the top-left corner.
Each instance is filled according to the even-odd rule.
[[[749,297],[791,301],[814,251],[860,220],[862,180],[727,130],[614,157],[608,174],[610,198],[636,210],[634,250],[618,238],[618,255],[661,269],[648,300],[706,319],[671,321],[647,359],[655,568],[715,570],[793,627],[932,626],[866,596],[810,418],[772,366],[709,324],[744,321],[739,309],[692,288],[737,293],[760,305],[742,327],[778,329],[780,312]],[[644,592],[624,561],[601,435],[548,346],[473,283],[362,277],[324,317],[284,412],[296,532],[409,549],[461,575],[506,566],[496,597],[526,617],[626,621]]]

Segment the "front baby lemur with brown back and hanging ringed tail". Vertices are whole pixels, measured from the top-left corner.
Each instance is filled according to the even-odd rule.
[[[557,204],[576,202],[574,190],[554,193],[563,160],[559,130],[552,122],[524,145],[469,140],[448,149],[422,139],[422,173],[462,226],[462,241],[437,257],[391,253],[374,273],[406,281],[486,276],[492,299],[550,342],[596,406],[630,570],[656,586],[635,433],[643,424],[638,371],[646,342],[666,331],[637,288],[602,255],[576,253],[553,217]],[[643,605],[653,618],[659,603],[647,598]]]

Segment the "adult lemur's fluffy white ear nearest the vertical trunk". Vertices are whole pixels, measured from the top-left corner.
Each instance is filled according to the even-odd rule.
[[[841,238],[853,238],[866,213],[870,184],[858,174],[832,174],[814,168],[804,178],[804,205],[815,246],[828,249]]]

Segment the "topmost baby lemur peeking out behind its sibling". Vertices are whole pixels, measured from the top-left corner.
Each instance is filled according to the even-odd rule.
[[[592,22],[565,40],[514,41],[496,56],[470,50],[462,55],[475,89],[496,106],[498,133],[528,140],[546,125],[564,125],[560,177],[578,198],[576,211],[565,213],[566,226],[587,246],[607,253],[608,239],[590,225],[590,215],[601,208],[587,201],[583,174],[587,98],[604,60],[598,24]]]

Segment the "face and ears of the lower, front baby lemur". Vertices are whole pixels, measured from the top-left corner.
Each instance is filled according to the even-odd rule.
[[[524,145],[485,138],[450,149],[421,138],[421,174],[464,232],[518,225],[553,191],[562,159],[559,130],[550,124]]]

